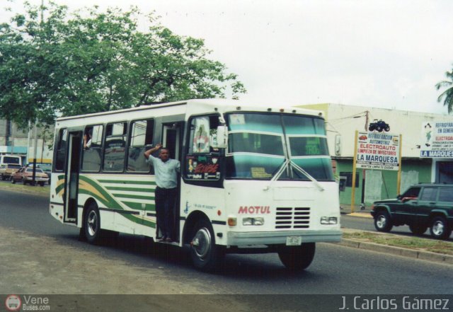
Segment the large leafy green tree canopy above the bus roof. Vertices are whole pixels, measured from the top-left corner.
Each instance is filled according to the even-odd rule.
[[[53,2],[25,3],[25,13],[0,24],[0,117],[25,127],[57,115],[245,93],[210,53],[202,39],[176,35],[136,7],[70,13]]]

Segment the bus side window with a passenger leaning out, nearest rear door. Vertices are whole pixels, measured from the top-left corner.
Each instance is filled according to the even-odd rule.
[[[84,134],[89,135],[91,144],[88,149],[84,149],[83,151],[82,171],[98,172],[101,169],[102,132],[103,125],[88,126],[85,128]]]

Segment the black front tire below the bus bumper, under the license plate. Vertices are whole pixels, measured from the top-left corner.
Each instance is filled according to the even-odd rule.
[[[302,243],[300,246],[282,245],[278,248],[277,253],[287,270],[301,272],[311,265],[315,251],[315,243]]]

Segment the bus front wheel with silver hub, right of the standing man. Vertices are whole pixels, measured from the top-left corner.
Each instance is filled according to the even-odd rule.
[[[216,270],[224,258],[224,248],[215,244],[212,225],[205,219],[195,225],[190,241],[190,257],[193,265],[204,272]]]

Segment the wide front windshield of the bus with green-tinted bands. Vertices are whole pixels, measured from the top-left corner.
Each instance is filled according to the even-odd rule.
[[[234,113],[226,154],[227,179],[270,180],[285,166],[279,180],[333,180],[324,120],[280,113]]]

